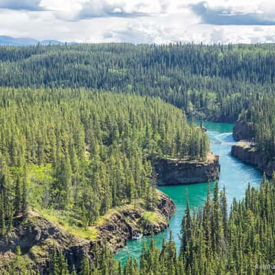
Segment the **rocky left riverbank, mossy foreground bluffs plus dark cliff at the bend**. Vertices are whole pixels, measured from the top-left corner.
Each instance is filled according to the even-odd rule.
[[[214,181],[219,177],[219,157],[210,153],[204,162],[158,159],[153,165],[159,186]],[[96,246],[101,248],[104,241],[115,253],[136,236],[164,232],[176,210],[175,203],[159,190],[152,199],[150,210],[144,199],[135,199],[109,210],[86,229],[77,217],[71,217],[69,210],[30,210],[28,219],[15,219],[10,235],[0,239],[0,251],[3,252],[0,261],[8,261],[20,246],[34,268],[42,272],[55,247],[63,252],[69,266],[78,269],[83,254],[92,262]]]

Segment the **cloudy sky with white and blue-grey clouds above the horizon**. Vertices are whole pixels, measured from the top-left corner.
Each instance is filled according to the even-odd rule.
[[[275,43],[275,3],[0,0],[0,35],[82,43]]]

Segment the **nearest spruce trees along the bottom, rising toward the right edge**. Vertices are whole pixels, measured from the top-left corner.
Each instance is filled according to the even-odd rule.
[[[148,248],[144,243],[140,266],[129,257],[123,270],[115,263],[108,250],[98,254],[91,268],[83,259],[82,275],[199,275],[199,274],[273,274],[275,188],[263,179],[259,190],[250,188],[242,201],[233,201],[228,215],[225,190],[214,187],[214,195],[208,196],[203,209],[192,213],[188,203],[181,223],[181,249],[177,255],[173,236],[162,243],[159,250],[153,238]],[[16,267],[32,274],[17,251],[9,271]],[[52,253],[50,274],[69,274],[63,254]],[[8,274],[8,273],[7,273]],[[72,270],[71,274],[76,274]]]

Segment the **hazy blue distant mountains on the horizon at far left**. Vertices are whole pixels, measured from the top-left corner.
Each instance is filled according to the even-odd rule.
[[[13,38],[11,36],[5,36],[0,35],[0,45],[11,45],[11,46],[33,46],[38,45],[40,43],[41,45],[63,45],[64,42],[56,41],[56,40],[43,40],[38,41],[36,39],[30,39],[28,37],[22,37],[22,38]],[[72,44],[72,43],[68,43]]]

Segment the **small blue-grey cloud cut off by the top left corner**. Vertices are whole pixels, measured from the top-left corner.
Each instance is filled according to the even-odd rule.
[[[9,10],[43,10],[41,0],[0,0],[0,8]]]

